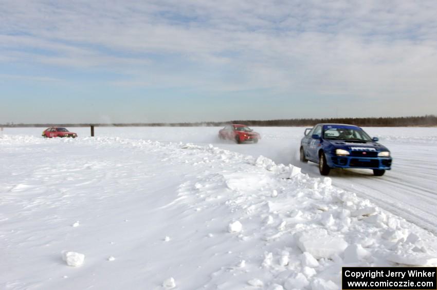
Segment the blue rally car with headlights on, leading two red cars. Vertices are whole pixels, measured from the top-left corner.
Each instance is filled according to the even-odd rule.
[[[354,125],[317,124],[305,129],[300,161],[318,163],[321,175],[329,175],[331,168],[368,168],[374,176],[383,176],[392,158],[389,149],[377,141]]]

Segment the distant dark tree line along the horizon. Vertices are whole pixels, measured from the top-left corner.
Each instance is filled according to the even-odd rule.
[[[318,123],[353,124],[360,127],[431,127],[437,126],[435,115],[420,117],[379,117],[379,118],[326,118],[326,119],[281,119],[281,120],[232,120],[228,122],[195,122],[195,123],[93,123],[93,124],[0,124],[0,127],[217,127],[225,124],[246,124],[248,126],[265,127],[303,127]]]

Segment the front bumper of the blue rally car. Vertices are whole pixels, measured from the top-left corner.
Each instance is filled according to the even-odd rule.
[[[326,162],[332,168],[367,168],[391,169],[391,157],[356,157],[356,156],[326,156]]]

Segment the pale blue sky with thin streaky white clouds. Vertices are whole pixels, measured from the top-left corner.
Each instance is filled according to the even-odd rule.
[[[437,114],[435,1],[3,1],[0,123]]]

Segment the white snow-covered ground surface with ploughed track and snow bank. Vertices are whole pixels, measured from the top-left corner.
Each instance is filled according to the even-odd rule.
[[[366,128],[393,169],[328,178],[297,160],[304,128],[69,129],[0,135],[2,289],[340,289],[341,266],[437,266],[437,128]]]

